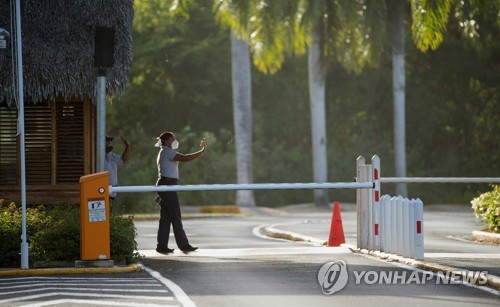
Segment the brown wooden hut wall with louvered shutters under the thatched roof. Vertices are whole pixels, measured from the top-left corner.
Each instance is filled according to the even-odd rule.
[[[80,176],[94,170],[95,107],[57,101],[25,108],[27,202],[78,203]],[[0,199],[20,199],[17,110],[0,106]]]

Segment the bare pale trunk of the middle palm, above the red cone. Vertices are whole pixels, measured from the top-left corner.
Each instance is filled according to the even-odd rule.
[[[318,29],[311,34],[308,52],[309,99],[311,107],[311,135],[313,154],[313,175],[315,182],[326,182],[328,175],[325,121],[325,79],[324,58]],[[328,206],[328,191],[314,190],[314,203],[318,207]]]

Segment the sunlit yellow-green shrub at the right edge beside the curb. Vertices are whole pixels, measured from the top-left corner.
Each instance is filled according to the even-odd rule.
[[[485,229],[500,233],[500,185],[483,193],[472,201],[472,209],[476,218],[483,221]]]

